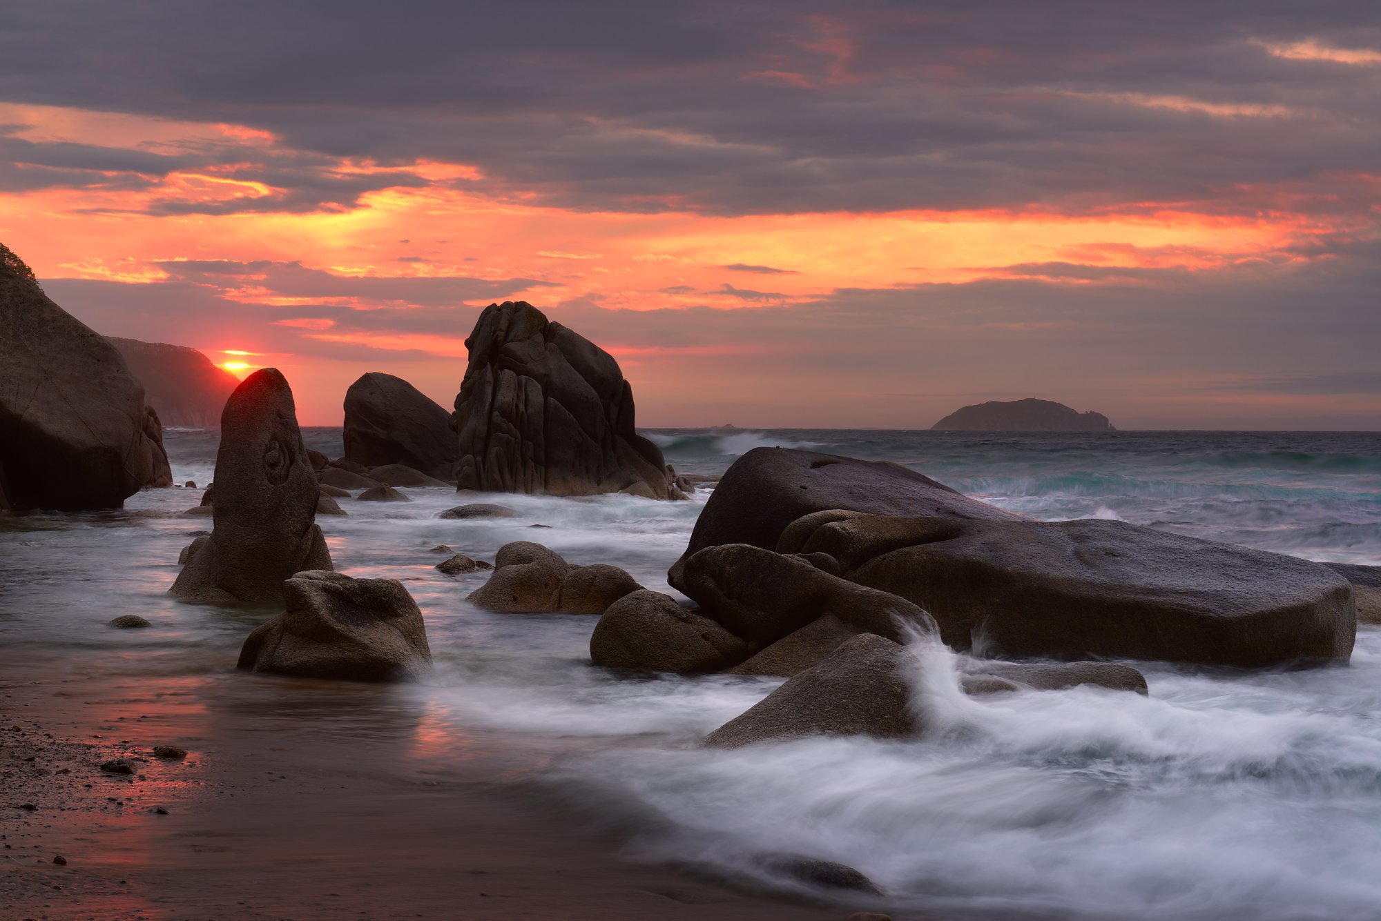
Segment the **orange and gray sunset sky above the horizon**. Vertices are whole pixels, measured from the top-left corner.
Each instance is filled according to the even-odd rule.
[[[7,3],[0,243],[95,330],[645,426],[1381,427],[1381,4]]]

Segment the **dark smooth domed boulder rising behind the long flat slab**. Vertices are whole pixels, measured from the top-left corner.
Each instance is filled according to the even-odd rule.
[[[754,448],[720,478],[696,520],[686,551],[671,567],[671,585],[685,591],[681,582],[685,561],[706,547],[751,543],[775,550],[789,524],[831,509],[940,520],[1022,520],[898,463]]]

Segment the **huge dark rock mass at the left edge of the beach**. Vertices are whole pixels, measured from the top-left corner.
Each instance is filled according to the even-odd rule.
[[[119,350],[0,247],[0,495],[14,509],[119,509],[171,485],[144,387]],[[162,432],[162,429],[159,429]],[[166,483],[164,483],[166,480]]]

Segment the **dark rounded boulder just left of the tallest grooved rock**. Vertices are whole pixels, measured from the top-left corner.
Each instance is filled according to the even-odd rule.
[[[344,437],[345,459],[365,467],[400,463],[441,480],[456,476],[460,449],[450,414],[391,374],[371,371],[349,385]]]

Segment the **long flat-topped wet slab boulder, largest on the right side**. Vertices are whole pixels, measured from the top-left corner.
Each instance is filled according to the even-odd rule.
[[[780,549],[924,607],[958,649],[1259,667],[1346,662],[1356,633],[1352,587],[1327,567],[1124,521],[840,513]]]

